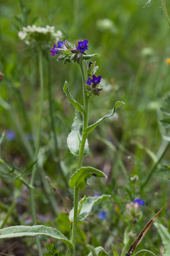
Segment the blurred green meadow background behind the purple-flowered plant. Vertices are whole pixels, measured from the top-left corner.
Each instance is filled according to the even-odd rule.
[[[152,0],[143,8],[145,4],[146,0],[1,1],[0,72],[4,77],[0,81],[0,135],[5,135],[0,143],[1,157],[11,168],[16,166],[23,171],[31,165],[27,144],[34,148],[39,117],[38,52],[28,48],[18,37],[22,27],[33,24],[37,27],[55,26],[56,31],[63,33],[61,41],[67,39],[74,45],[76,39],[88,39],[88,54],[100,54],[92,61],[97,61],[99,70],[96,75],[102,76],[102,85],[105,86],[100,96],[90,99],[90,124],[112,109],[116,101],[125,102],[112,118],[102,122],[88,137],[90,154],[83,163],[104,171],[108,180],[91,179],[93,186],[81,190],[80,198],[84,194],[93,196],[97,193],[110,194],[112,200],[95,206],[85,225],[79,229],[78,255],[87,255],[85,245],[91,243],[93,246],[102,245],[109,254],[118,256],[115,251],[120,253],[123,248],[124,230],[128,226],[130,230],[131,223],[134,224],[134,219],[129,220],[125,213],[126,204],[137,197],[145,200],[140,222],[135,220],[137,234],[162,206],[162,223],[170,229],[166,220],[170,211],[169,186],[157,178],[162,176],[158,170],[169,164],[168,150],[162,157],[162,163],[156,165],[143,186],[150,168],[157,163],[167,143],[162,139],[162,135],[168,134],[168,128],[160,122],[164,117],[160,107],[165,105],[164,98],[170,91],[170,29],[161,1]],[[168,1],[167,10],[170,11]],[[50,56],[49,50],[54,43],[57,44],[47,45],[49,48],[44,50],[43,55],[41,166],[57,188],[57,196],[50,190],[56,197],[57,210],[53,209],[54,206],[51,208],[37,176],[36,212],[38,224],[59,227],[69,237],[70,229],[66,229],[63,223],[68,221],[73,191],[58,172],[56,163],[59,155],[60,166],[66,181],[69,181],[76,169],[77,159],[69,152],[66,138],[75,112],[65,97],[63,85],[67,80],[71,94],[82,103],[82,82],[77,64],[67,63],[64,66],[56,61],[56,56]],[[53,96],[57,154],[50,130],[49,83]],[[0,171],[1,228],[16,224],[31,225],[26,187],[9,172],[7,174],[4,165],[0,165]],[[164,177],[168,178],[168,175]],[[30,179],[29,168],[25,179]],[[13,209],[6,216],[11,206]],[[102,219],[98,213],[106,209],[107,215]],[[163,253],[156,228],[152,230],[150,232],[154,234],[146,235],[139,248],[149,246],[149,250]],[[132,236],[129,243],[133,239],[135,237]],[[46,242],[47,238],[43,237],[42,244]],[[33,238],[3,240],[0,241],[0,251],[16,256],[36,255],[36,245]],[[25,251],[28,253],[25,254]]]

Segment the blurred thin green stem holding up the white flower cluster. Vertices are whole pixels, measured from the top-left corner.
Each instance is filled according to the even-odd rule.
[[[44,86],[43,69],[42,69],[42,51],[40,48],[38,51],[38,62],[39,62],[39,76],[40,76],[40,112],[39,112],[39,124],[38,124],[37,138],[36,138],[34,162],[37,160],[38,152],[39,152],[39,144],[40,144],[40,136],[41,136],[42,104],[43,104],[43,86]],[[37,170],[37,165],[35,164],[33,166],[33,171],[31,174],[31,181],[30,181],[31,186],[33,186],[35,181],[36,170]],[[35,200],[34,200],[33,189],[30,189],[30,205],[31,205],[33,225],[36,225],[36,212],[35,212]],[[39,256],[42,256],[41,244],[38,236],[36,236],[36,244],[38,247]]]

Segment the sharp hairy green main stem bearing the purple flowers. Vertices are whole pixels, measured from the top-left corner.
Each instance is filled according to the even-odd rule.
[[[80,69],[82,73],[82,82],[83,82],[83,90],[84,90],[84,84],[86,82],[85,80],[85,72],[83,68],[82,62],[80,63]],[[88,97],[86,93],[83,91],[83,100],[84,100],[84,108],[86,112],[84,113],[84,125],[83,128],[87,128],[88,125]],[[83,134],[82,136],[82,142],[80,146],[80,152],[79,152],[79,157],[77,160],[77,170],[82,166],[82,159],[83,159],[83,152],[84,152],[84,147],[85,147],[85,142],[86,142],[87,134]],[[75,187],[74,190],[74,219],[73,219],[73,226],[72,226],[72,237],[71,237],[71,242],[75,246],[76,244],[76,231],[77,231],[77,214],[78,214],[78,202],[79,202],[79,187]],[[72,254],[73,253],[73,254]],[[75,255],[75,249],[73,252],[71,252],[71,255]]]

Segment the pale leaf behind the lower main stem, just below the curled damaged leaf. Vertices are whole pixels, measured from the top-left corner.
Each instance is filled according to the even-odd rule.
[[[104,202],[108,198],[110,198],[110,195],[101,195],[99,197],[87,197],[86,201],[82,204],[82,200],[84,200],[84,197],[79,202],[79,208],[81,207],[78,215],[78,221],[83,221],[85,218],[87,218],[88,214],[90,213],[92,207],[98,203]],[[70,211],[69,214],[69,220],[73,221],[74,218],[74,208]]]

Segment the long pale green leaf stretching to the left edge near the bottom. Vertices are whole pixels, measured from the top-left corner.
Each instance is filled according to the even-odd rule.
[[[65,243],[70,249],[73,249],[71,241],[69,241],[60,231],[53,227],[46,227],[44,225],[37,226],[13,226],[0,229],[0,238],[13,237],[34,237],[35,235],[47,235],[48,237],[56,238]]]

